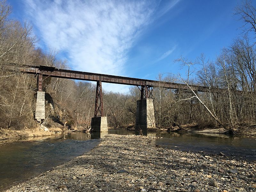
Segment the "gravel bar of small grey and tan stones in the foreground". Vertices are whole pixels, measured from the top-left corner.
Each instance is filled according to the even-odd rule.
[[[255,191],[256,164],[107,135],[91,151],[7,191]],[[223,154],[224,155],[224,154]]]

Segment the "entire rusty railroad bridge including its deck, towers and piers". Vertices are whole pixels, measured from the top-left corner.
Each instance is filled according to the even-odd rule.
[[[166,89],[185,89],[189,90],[189,87],[185,84],[170,83],[163,81],[154,81],[147,79],[138,79],[124,76],[113,76],[98,73],[89,73],[82,71],[74,71],[67,69],[60,69],[49,66],[34,66],[34,65],[23,65],[21,70],[24,73],[34,74],[37,76],[38,91],[36,98],[36,115],[35,119],[38,122],[42,122],[45,119],[45,108],[44,108],[44,94],[42,90],[43,77],[58,77],[66,79],[76,79],[85,81],[96,81],[96,96],[95,96],[95,110],[94,117],[92,117],[91,127],[95,132],[107,132],[108,124],[107,117],[104,114],[103,100],[102,100],[102,86],[101,83],[114,83],[114,84],[125,84],[134,85],[140,88],[140,100],[137,101],[136,110],[136,124],[135,128],[140,128],[145,131],[148,128],[156,127],[154,105],[153,105],[153,89],[154,87],[163,87]],[[190,85],[189,85],[190,86]],[[209,88],[204,86],[190,86],[193,90],[199,92],[208,92]]]

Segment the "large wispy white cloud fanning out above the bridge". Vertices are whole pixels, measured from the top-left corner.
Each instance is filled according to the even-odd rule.
[[[23,1],[41,41],[65,52],[72,68],[123,76],[128,50],[154,20],[159,5],[146,0]],[[160,15],[174,4],[169,4]]]

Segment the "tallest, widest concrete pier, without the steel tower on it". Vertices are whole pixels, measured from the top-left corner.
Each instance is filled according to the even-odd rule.
[[[135,129],[147,131],[148,128],[156,127],[153,99],[137,101]]]

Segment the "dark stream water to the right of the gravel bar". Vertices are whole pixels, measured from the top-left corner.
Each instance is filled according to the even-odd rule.
[[[136,134],[126,130],[109,130],[108,133]],[[256,137],[195,132],[147,132],[147,135],[163,137],[155,141],[161,147],[217,155],[223,152],[226,156],[256,161]]]

